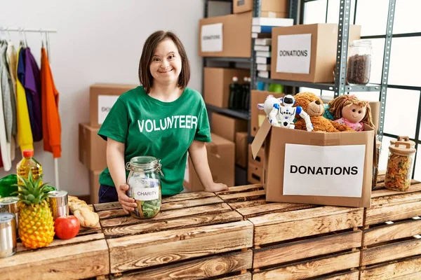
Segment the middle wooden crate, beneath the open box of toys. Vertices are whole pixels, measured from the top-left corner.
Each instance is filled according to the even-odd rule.
[[[363,208],[266,202],[259,184],[218,196],[254,225],[253,279],[359,278]]]

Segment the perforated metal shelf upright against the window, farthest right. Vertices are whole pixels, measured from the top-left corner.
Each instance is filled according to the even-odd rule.
[[[382,141],[383,127],[385,127],[385,110],[386,110],[386,94],[387,94],[387,80],[389,79],[389,65],[390,65],[390,51],[392,50],[392,34],[394,23],[394,10],[396,0],[389,0],[389,13],[387,14],[387,27],[385,39],[385,51],[383,52],[383,67],[382,80],[380,83],[380,120],[378,127],[377,138]]]

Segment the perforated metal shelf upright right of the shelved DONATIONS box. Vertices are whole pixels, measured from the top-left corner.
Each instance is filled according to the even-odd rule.
[[[349,18],[351,18],[351,0],[340,0],[335,65],[335,97],[345,94],[345,85],[347,83],[345,78],[347,76]]]

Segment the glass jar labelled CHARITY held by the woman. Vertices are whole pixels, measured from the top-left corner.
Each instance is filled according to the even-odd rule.
[[[126,169],[130,170],[127,178],[128,196],[138,204],[131,216],[156,216],[161,210],[161,160],[150,156],[131,158]]]

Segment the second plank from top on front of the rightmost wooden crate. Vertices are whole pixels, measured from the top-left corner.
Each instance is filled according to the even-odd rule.
[[[364,230],[363,246],[421,234],[421,219],[382,225]]]

